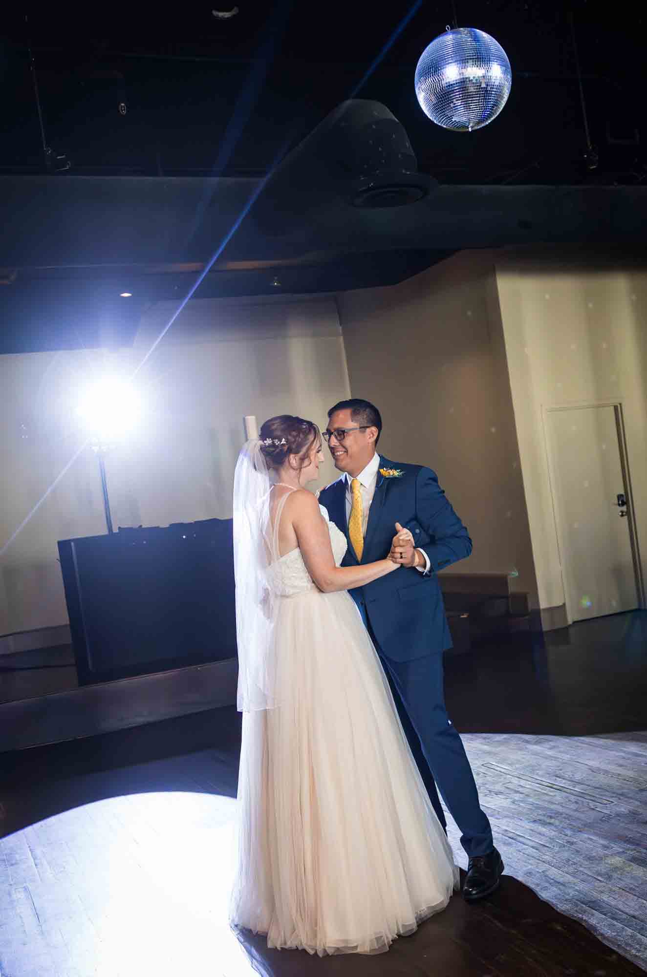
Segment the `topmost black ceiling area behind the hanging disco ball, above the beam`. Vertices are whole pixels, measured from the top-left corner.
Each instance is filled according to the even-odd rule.
[[[417,59],[453,22],[453,2],[457,22],[493,34],[513,72],[507,106],[471,135],[435,126],[413,92]],[[69,163],[77,175],[261,176],[286,141],[296,145],[334,106],[361,97],[391,109],[419,168],[443,184],[647,177],[643,5],[631,14],[586,0],[238,0],[236,15],[217,19],[221,8],[233,0],[43,4],[27,22],[20,5],[7,9],[0,172],[45,168],[29,38],[53,168]],[[583,160],[571,13],[594,170]]]

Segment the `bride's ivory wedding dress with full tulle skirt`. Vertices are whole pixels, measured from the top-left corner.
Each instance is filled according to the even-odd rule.
[[[353,599],[322,593],[298,549],[269,574],[280,705],[242,717],[231,921],[269,947],[379,953],[445,909],[452,850]]]

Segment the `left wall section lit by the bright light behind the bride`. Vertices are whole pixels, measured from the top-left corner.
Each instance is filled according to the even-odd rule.
[[[78,391],[88,376],[132,372],[175,309],[154,306],[133,348],[0,357],[0,550],[41,502],[0,556],[0,635],[66,622],[57,541],[106,531],[96,457],[86,448],[70,464],[84,440]],[[349,396],[335,302],[192,301],[137,386],[142,423],[107,459],[115,530],[229,517],[242,416],[324,425]],[[321,484],[333,476],[326,458]]]

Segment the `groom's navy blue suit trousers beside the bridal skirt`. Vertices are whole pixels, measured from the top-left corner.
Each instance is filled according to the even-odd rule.
[[[492,828],[481,810],[474,775],[460,736],[445,708],[443,653],[394,661],[379,647],[363,603],[356,602],[389,681],[405,734],[429,799],[443,828],[445,812],[438,793],[460,828],[468,857],[494,847]]]

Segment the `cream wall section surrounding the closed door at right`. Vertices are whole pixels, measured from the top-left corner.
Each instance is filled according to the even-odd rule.
[[[542,608],[564,604],[545,410],[622,404],[647,578],[647,261],[586,248],[497,252],[512,400]]]

